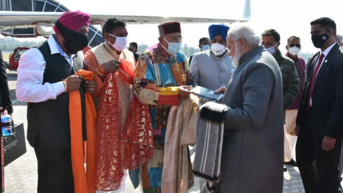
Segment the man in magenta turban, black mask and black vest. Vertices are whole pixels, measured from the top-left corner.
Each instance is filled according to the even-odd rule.
[[[64,13],[54,25],[56,33],[19,61],[16,96],[28,102],[27,138],[37,158],[37,193],[74,193],[68,92],[80,93],[86,140],[85,93],[92,94],[95,84],[74,74],[84,69],[80,51],[88,45],[89,19],[81,11]]]

